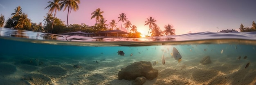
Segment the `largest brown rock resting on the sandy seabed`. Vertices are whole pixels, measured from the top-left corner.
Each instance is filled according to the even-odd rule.
[[[135,80],[137,77],[146,77],[148,80],[153,80],[157,77],[158,70],[153,69],[150,62],[134,62],[133,64],[122,68],[118,72],[118,79]]]

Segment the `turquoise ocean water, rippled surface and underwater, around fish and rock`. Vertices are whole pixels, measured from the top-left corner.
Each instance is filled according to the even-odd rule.
[[[255,85],[255,47],[256,32],[104,38],[0,28],[0,85],[132,85],[117,74],[139,61],[158,62],[144,85]]]

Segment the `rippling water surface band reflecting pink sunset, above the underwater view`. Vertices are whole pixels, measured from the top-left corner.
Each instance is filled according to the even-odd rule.
[[[48,34],[26,30],[0,28],[0,39],[29,43],[76,46],[152,46],[184,44],[246,44],[256,45],[256,32],[198,32],[147,38],[85,37]]]

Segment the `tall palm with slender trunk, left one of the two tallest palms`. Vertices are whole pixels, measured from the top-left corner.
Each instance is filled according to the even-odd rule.
[[[55,18],[55,15],[56,15],[56,12],[57,12],[57,10],[58,11],[60,11],[61,10],[61,8],[60,8],[60,5],[61,4],[59,4],[58,2],[59,2],[60,0],[54,0],[54,2],[51,2],[51,1],[49,1],[48,3],[50,3],[47,7],[45,7],[45,9],[46,8],[49,8],[49,12],[52,14],[52,12],[54,12],[54,17],[53,17],[53,21],[52,21],[52,28],[53,28],[53,23],[54,23],[54,18]]]

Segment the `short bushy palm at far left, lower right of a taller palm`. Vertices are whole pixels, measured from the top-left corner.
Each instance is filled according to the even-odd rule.
[[[18,20],[18,24],[17,24],[17,26],[15,26],[15,28],[23,29],[23,28],[25,28],[25,26],[31,26],[31,25],[29,25],[30,21],[31,20],[27,19],[27,15],[22,14],[22,15],[20,15],[20,18]]]

